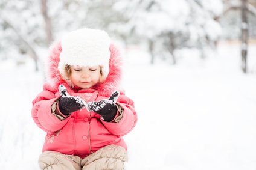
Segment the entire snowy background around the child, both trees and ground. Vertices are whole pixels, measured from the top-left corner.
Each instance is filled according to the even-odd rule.
[[[85,27],[124,54],[127,170],[256,169],[256,0],[1,0],[1,169],[39,169],[48,48]]]

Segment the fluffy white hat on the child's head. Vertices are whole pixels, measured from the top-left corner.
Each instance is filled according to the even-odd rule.
[[[65,65],[92,67],[100,65],[103,78],[109,74],[110,37],[103,30],[83,28],[69,32],[62,40],[62,52],[58,65],[60,74],[65,75]]]

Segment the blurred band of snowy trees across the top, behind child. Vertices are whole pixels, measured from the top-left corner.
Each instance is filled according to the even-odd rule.
[[[54,40],[84,27],[104,29],[124,47],[143,46],[152,64],[178,64],[182,49],[196,49],[204,59],[219,41],[240,43],[246,73],[248,44],[256,38],[256,1],[1,0],[0,62],[22,65],[31,57],[40,70]]]

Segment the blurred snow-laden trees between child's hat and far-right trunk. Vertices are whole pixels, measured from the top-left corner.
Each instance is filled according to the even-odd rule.
[[[203,49],[214,46],[221,33],[214,20],[222,13],[221,0],[133,0],[121,1],[118,6],[129,16],[119,31],[128,28],[124,32],[127,38],[147,43],[152,63],[155,56],[172,56],[175,64],[175,50],[184,47],[197,47],[204,56]]]

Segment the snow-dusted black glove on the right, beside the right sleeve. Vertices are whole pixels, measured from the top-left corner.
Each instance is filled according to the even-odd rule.
[[[115,103],[120,95],[119,91],[115,91],[109,99],[103,99],[99,101],[89,102],[86,109],[90,112],[95,112],[101,115],[104,121],[112,121],[117,114],[117,106]]]

